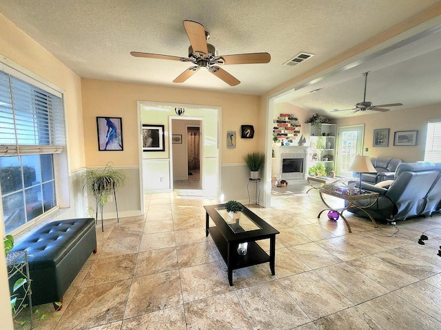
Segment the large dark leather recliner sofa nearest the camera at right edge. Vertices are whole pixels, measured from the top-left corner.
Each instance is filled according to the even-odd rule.
[[[429,216],[441,208],[441,163],[402,163],[396,169],[395,180],[389,188],[366,182],[362,182],[362,188],[380,194],[378,202],[366,209],[376,220],[396,221]],[[367,206],[369,203],[357,201],[356,205]],[[348,210],[367,217],[355,207]]]

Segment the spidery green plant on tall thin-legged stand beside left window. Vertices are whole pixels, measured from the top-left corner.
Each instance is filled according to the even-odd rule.
[[[112,194],[116,200],[116,190],[123,186],[125,180],[123,171],[115,170],[110,166],[110,163],[107,163],[105,168],[86,170],[83,188],[88,192],[88,195],[92,195],[96,199],[96,217],[98,217],[98,206],[100,207],[101,227],[103,227],[104,206],[109,202]],[[118,214],[118,208],[116,208],[116,214]],[[104,228],[102,229],[104,231]]]

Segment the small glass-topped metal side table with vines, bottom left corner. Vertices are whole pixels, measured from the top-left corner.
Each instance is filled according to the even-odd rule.
[[[30,289],[28,253],[26,251],[8,252],[8,254],[6,254],[6,265],[8,266],[8,280],[10,280],[10,278],[18,279],[22,277],[26,279],[26,283],[23,286],[25,287],[25,290],[27,291],[27,295],[28,295],[30,322],[25,323],[25,325],[29,324],[30,325],[29,329],[32,329],[34,326],[32,324],[32,297],[31,297],[32,292]],[[15,279],[15,281],[17,281],[17,279]],[[14,293],[11,293],[11,296],[12,295],[14,295]],[[21,300],[21,302],[23,300]],[[18,299],[17,299],[17,304],[19,305]],[[23,325],[21,329],[24,329],[25,325]]]

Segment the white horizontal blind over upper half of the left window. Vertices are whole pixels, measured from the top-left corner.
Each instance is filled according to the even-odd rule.
[[[0,155],[61,153],[63,100],[0,71]]]

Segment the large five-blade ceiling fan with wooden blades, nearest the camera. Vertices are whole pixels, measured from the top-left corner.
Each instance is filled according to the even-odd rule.
[[[251,53],[251,54],[236,54],[218,56],[218,51],[214,45],[207,43],[209,33],[205,31],[204,25],[194,21],[183,21],[185,32],[187,32],[190,46],[188,48],[188,57],[178,57],[170,55],[130,52],[132,56],[159,58],[163,60],[191,62],[194,66],[186,69],[180,74],[173,83],[183,83],[189,77],[196,74],[199,69],[206,69],[214,76],[222,79],[230,86],[240,84],[240,81],[234,78],[231,74],[226,72],[218,65],[232,65],[232,64],[252,64],[252,63],[268,63],[271,56],[268,53]]]

